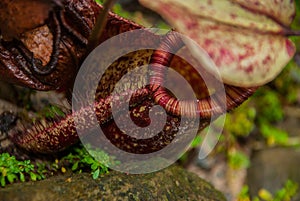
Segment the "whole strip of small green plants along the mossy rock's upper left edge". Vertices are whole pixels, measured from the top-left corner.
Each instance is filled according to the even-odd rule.
[[[93,179],[108,173],[112,163],[117,164],[105,152],[100,150],[90,151],[94,159],[84,147],[76,146],[70,153],[54,162],[32,163],[30,160],[19,161],[8,153],[0,154],[0,184],[2,187],[17,181],[37,181],[46,178],[46,175],[57,174],[59,170],[65,173],[68,169],[74,172],[91,172]],[[101,161],[101,162],[99,162]]]

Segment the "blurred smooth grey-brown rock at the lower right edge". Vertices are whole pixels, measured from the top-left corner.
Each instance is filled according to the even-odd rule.
[[[274,194],[288,179],[300,186],[299,166],[300,149],[279,147],[255,152],[247,175],[250,194],[257,195],[262,188]],[[299,191],[294,200],[300,200]]]

